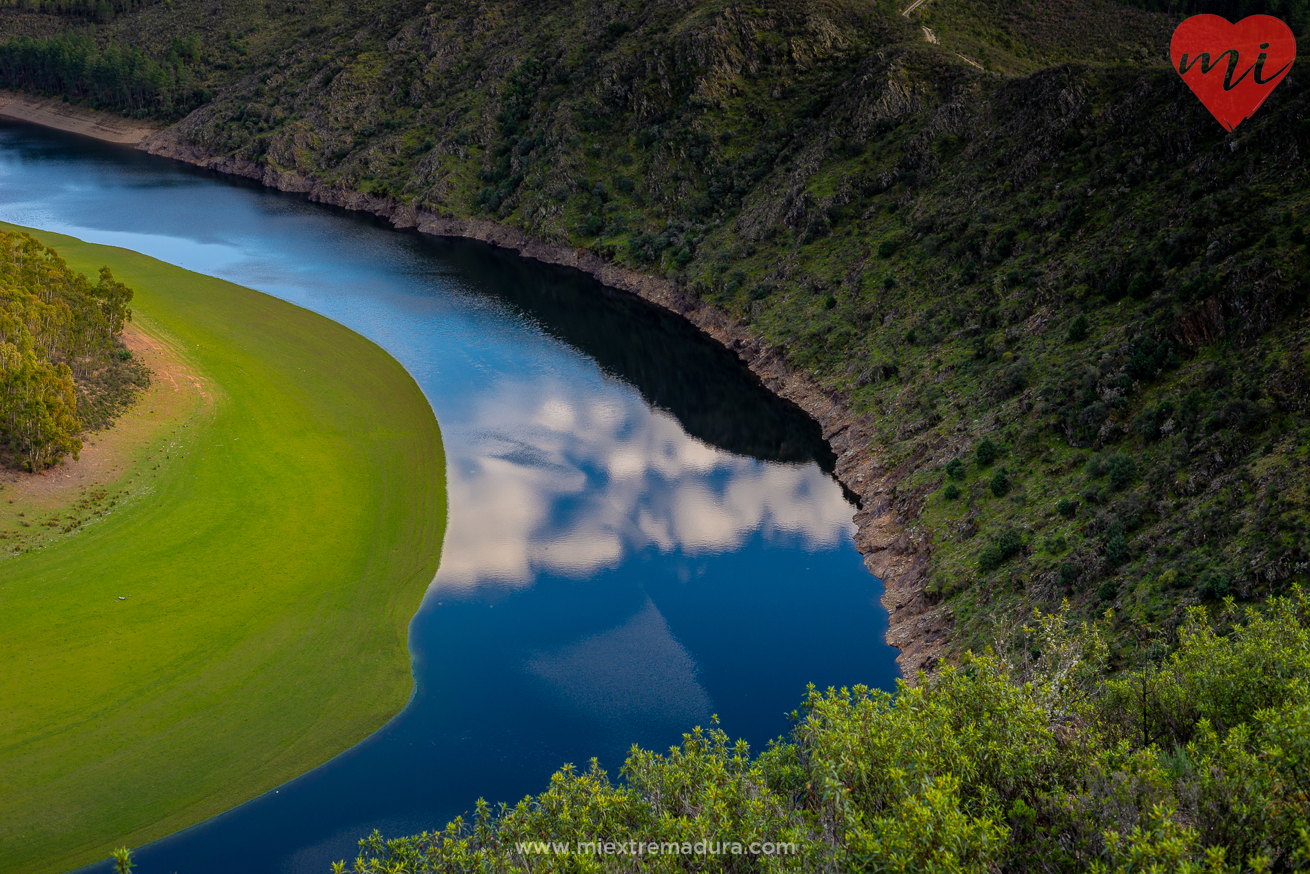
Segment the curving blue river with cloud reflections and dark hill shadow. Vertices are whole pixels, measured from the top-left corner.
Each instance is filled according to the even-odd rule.
[[[322,874],[562,763],[719,714],[761,748],[807,683],[891,688],[882,584],[817,426],[681,320],[571,271],[126,148],[0,123],[0,219],[334,318],[423,388],[448,459],[415,692],[377,734],[144,846],[139,874]],[[367,694],[367,689],[360,689]]]

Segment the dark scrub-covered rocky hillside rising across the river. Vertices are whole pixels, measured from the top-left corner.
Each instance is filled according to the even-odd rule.
[[[1123,667],[1306,577],[1300,67],[1229,135],[1153,1],[37,5],[0,10],[10,86],[198,106],[168,135],[748,325],[852,411],[917,574],[893,624],[947,653],[1068,598]]]

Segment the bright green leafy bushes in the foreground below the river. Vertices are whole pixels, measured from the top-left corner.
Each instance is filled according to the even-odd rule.
[[[1107,675],[1103,629],[1038,616],[1013,658],[969,654],[896,694],[811,688],[755,759],[697,729],[634,747],[617,786],[593,760],[472,823],[373,832],[354,870],[1303,870],[1310,598],[1229,599],[1222,618],[1193,608],[1171,656]],[[591,841],[614,852],[563,850]],[[751,853],[765,841],[795,852]]]

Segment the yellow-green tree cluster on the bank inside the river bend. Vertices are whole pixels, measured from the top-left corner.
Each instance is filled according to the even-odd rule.
[[[132,290],[96,284],[26,233],[0,231],[0,440],[33,473],[77,457],[77,377],[111,360]]]

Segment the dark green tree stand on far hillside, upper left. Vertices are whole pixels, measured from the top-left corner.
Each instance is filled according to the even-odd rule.
[[[52,92],[94,109],[117,109],[181,118],[210,100],[202,75],[187,60],[199,55],[199,39],[174,39],[168,56],[155,60],[135,46],[101,48],[85,34],[0,43],[0,85]]]

